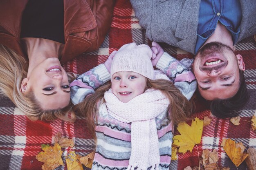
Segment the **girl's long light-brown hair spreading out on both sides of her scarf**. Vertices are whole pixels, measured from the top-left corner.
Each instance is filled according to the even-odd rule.
[[[147,79],[148,88],[155,88],[162,91],[168,97],[170,104],[168,106],[168,116],[174,124],[186,121],[192,113],[193,105],[174,84],[166,79],[151,80]],[[95,127],[97,124],[97,114],[99,112],[99,104],[105,102],[104,93],[111,88],[111,82],[100,86],[95,93],[87,96],[83,102],[75,106],[75,111],[79,115],[86,118],[86,124],[92,137],[96,140]],[[146,90],[145,89],[145,90]],[[94,123],[96,121],[96,124]]]

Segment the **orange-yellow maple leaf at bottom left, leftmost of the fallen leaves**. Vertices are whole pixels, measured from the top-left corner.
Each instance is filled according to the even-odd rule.
[[[58,166],[64,166],[64,163],[61,159],[62,150],[59,144],[54,144],[54,146],[49,146],[48,144],[43,144],[41,146],[44,152],[39,152],[36,155],[36,159],[40,162],[43,162],[43,170],[54,170]]]

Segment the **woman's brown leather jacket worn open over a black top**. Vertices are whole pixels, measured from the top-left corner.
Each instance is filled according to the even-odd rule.
[[[27,2],[0,0],[0,44],[23,57],[20,29]],[[115,0],[64,0],[65,47],[61,62],[99,48],[110,28],[114,5]]]

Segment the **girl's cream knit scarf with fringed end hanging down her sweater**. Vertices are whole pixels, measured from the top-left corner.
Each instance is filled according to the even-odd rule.
[[[131,156],[127,170],[158,169],[159,145],[155,117],[167,112],[168,98],[159,90],[148,89],[127,103],[121,102],[110,89],[104,94],[108,113],[131,124]]]

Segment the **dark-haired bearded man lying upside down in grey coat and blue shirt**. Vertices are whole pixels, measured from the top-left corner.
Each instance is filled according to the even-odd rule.
[[[233,45],[256,33],[255,0],[130,0],[150,40],[195,54],[198,91],[218,117],[234,117],[248,93]]]

